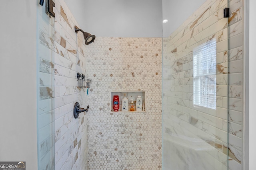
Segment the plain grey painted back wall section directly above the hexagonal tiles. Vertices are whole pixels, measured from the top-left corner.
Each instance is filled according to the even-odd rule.
[[[85,10],[96,37],[162,37],[162,0],[86,0]]]

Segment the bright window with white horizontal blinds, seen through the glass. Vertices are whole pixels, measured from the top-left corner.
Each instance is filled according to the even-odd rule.
[[[216,39],[193,50],[193,104],[216,109]]]

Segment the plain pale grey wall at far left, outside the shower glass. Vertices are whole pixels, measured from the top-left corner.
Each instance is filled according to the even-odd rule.
[[[36,170],[36,2],[2,1],[0,20],[0,161]]]

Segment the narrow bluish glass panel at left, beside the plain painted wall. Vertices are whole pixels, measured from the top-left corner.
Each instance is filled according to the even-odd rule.
[[[54,18],[37,12],[38,170],[54,170]]]

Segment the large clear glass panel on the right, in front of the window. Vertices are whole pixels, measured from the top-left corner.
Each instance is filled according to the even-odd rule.
[[[163,0],[164,170],[228,169],[227,7]]]

